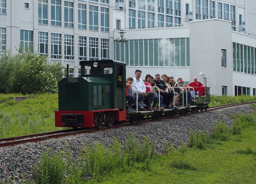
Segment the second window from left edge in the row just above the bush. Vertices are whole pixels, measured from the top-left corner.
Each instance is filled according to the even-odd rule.
[[[21,52],[33,52],[33,31],[20,30]]]

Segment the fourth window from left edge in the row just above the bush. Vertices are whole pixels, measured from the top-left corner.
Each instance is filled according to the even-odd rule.
[[[61,34],[51,33],[51,54],[52,59],[61,58]]]

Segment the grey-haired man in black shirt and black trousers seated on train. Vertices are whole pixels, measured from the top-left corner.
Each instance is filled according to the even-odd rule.
[[[156,82],[156,86],[160,89],[160,95],[163,96],[163,103],[168,109],[171,109],[170,103],[173,100],[174,93],[169,92],[167,86],[164,84],[164,81],[161,80],[160,74],[156,74],[156,78],[153,80]],[[158,91],[158,90],[156,90]]]

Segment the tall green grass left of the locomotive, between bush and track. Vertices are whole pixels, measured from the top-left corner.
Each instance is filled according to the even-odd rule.
[[[17,94],[1,95],[1,99]],[[19,94],[20,96],[20,94]],[[0,104],[0,138],[56,131],[54,111],[58,110],[58,94],[30,95],[22,102]]]

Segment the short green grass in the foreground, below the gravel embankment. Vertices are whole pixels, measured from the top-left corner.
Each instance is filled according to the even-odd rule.
[[[134,169],[107,175],[102,183],[256,183],[256,154],[236,153],[247,146],[255,149],[255,126],[221,143],[206,150],[188,149],[187,160],[196,170],[176,169],[170,166],[171,155],[164,155],[153,162],[150,172]]]

